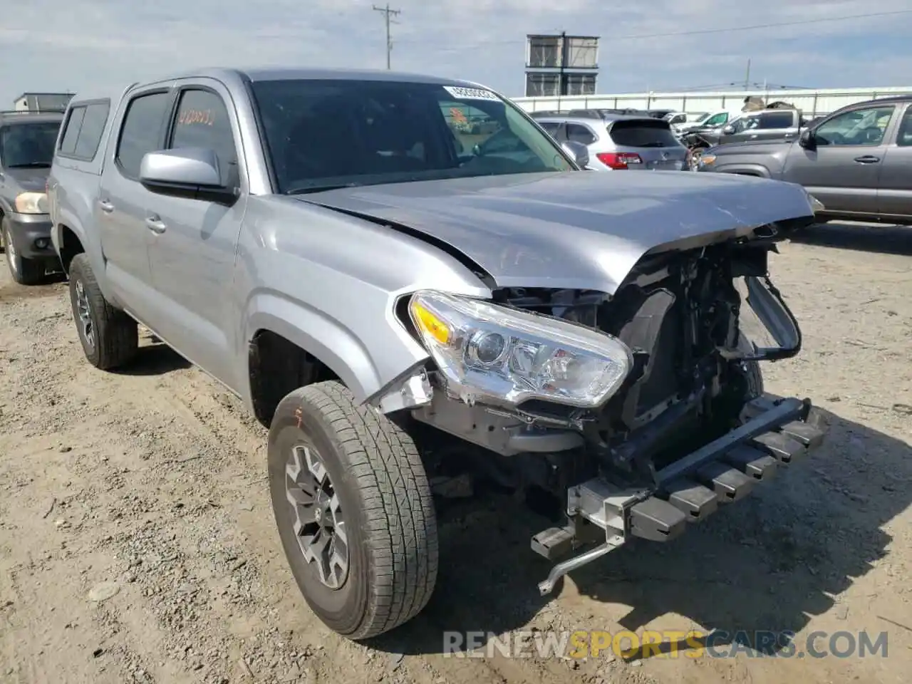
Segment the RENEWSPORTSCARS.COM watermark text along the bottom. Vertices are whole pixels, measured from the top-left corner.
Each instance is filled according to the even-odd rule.
[[[789,630],[444,632],[449,658],[886,658],[887,633]]]

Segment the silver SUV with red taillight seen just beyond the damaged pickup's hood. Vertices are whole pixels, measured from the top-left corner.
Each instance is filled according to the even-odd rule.
[[[668,121],[652,117],[602,114],[598,117],[556,115],[536,122],[560,143],[580,142],[589,150],[594,171],[685,171],[688,152]]]

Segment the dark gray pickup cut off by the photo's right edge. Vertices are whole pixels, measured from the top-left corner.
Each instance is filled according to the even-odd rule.
[[[710,148],[698,170],[803,185],[821,221],[912,224],[912,96],[848,105],[797,140]]]

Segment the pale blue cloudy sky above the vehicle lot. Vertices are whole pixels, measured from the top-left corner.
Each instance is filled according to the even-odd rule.
[[[912,86],[909,0],[390,6],[400,10],[391,27],[394,70],[465,78],[511,97],[523,95],[525,35],[562,30],[600,36],[600,94],[739,88],[749,58],[758,84]],[[890,12],[903,14],[861,16]],[[777,24],[790,26],[769,26]],[[766,26],[737,30],[758,25]],[[386,36],[370,0],[28,0],[4,13],[0,64],[4,107],[26,90],[97,93],[193,67],[385,68]]]

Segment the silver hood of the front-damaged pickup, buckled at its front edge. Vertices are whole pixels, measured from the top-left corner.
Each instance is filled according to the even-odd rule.
[[[813,217],[802,187],[689,171],[566,171],[368,185],[296,196],[389,222],[472,259],[500,287],[614,294],[644,255]]]

